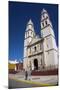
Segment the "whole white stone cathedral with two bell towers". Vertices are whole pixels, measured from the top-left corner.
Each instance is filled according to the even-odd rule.
[[[31,19],[26,26],[23,60],[25,70],[42,70],[49,67],[57,68],[58,66],[58,49],[53,25],[45,9],[41,12],[40,21],[41,36],[36,35]]]

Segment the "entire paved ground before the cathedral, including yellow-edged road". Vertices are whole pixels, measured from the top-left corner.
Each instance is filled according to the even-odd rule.
[[[30,79],[30,80],[29,80]],[[14,82],[14,83],[13,83]],[[9,87],[38,87],[38,86],[53,86],[58,85],[58,76],[30,76],[28,80],[25,80],[24,72],[17,74],[9,74]]]

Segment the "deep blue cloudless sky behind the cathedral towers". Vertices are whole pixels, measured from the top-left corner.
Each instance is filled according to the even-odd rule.
[[[36,34],[40,34],[41,11],[50,16],[58,46],[58,5],[9,1],[9,60],[23,59],[24,34],[27,22],[32,19]]]

